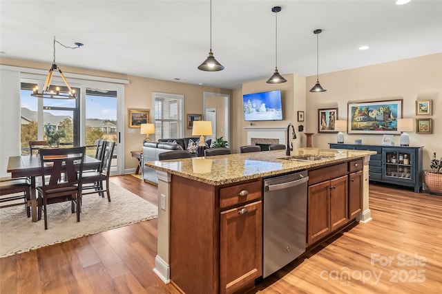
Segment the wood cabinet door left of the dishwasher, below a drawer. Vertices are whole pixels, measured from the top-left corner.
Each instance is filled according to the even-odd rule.
[[[222,211],[220,293],[233,293],[262,275],[262,202]]]

